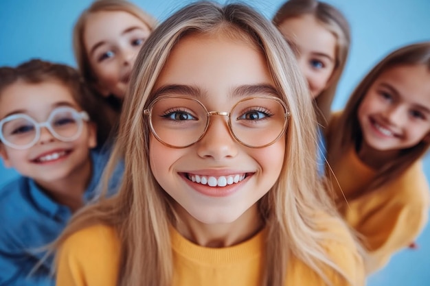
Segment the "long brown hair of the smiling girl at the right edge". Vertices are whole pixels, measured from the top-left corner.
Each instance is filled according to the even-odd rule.
[[[370,86],[388,69],[399,66],[424,64],[430,71],[430,42],[407,45],[392,53],[389,53],[381,62],[367,73],[355,88],[346,107],[344,108],[337,126],[330,127],[336,130],[328,135],[328,162],[336,162],[350,150],[357,147],[363,140],[358,119],[358,109]],[[377,170],[376,177],[365,191],[380,187],[402,174],[412,163],[423,156],[429,149],[429,142],[421,141],[413,147],[400,150],[400,154],[394,160],[385,163]]]

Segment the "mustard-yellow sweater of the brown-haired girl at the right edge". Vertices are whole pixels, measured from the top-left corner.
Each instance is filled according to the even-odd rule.
[[[328,136],[335,135],[336,128],[331,130],[334,134]],[[368,250],[367,273],[374,272],[394,252],[414,242],[427,223],[429,185],[422,163],[414,163],[396,180],[363,194],[376,171],[361,162],[353,147],[339,162],[330,162],[330,167],[337,178],[332,183],[339,212],[361,235]]]

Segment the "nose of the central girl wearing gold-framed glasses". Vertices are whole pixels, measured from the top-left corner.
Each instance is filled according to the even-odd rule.
[[[219,161],[234,158],[238,154],[238,143],[229,132],[225,116],[210,116],[210,126],[196,144],[197,154],[202,158]]]

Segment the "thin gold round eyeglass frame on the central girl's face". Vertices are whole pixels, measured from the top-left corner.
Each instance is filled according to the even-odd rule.
[[[175,98],[175,99],[190,99],[194,102],[196,102],[197,104],[199,104],[201,107],[203,107],[203,110],[205,110],[206,113],[206,126],[205,129],[203,130],[201,136],[199,137],[199,139],[197,139],[196,141],[194,141],[193,143],[190,143],[188,145],[185,146],[174,146],[174,145],[170,145],[166,142],[164,142],[163,140],[161,140],[161,138],[159,138],[157,132],[155,132],[154,126],[152,126],[152,108],[155,106],[155,104],[157,104],[157,102],[159,102],[162,99],[168,99],[168,98]],[[280,134],[278,134],[278,136],[273,139],[273,141],[271,141],[270,143],[264,144],[262,146],[252,146],[249,144],[245,144],[244,142],[240,141],[240,139],[238,139],[238,137],[236,136],[236,134],[234,134],[233,132],[233,128],[231,126],[231,111],[234,110],[234,108],[236,108],[236,106],[238,106],[238,104],[242,103],[242,102],[246,102],[247,100],[251,100],[251,99],[273,99],[275,100],[275,102],[278,102],[279,104],[281,104],[282,108],[284,108],[284,126],[282,126],[282,130],[280,131]],[[177,96],[172,96],[172,95],[161,95],[155,99],[152,100],[152,102],[150,102],[150,104],[148,105],[148,108],[144,109],[144,115],[147,115],[149,117],[149,125],[150,125],[150,130],[152,132],[152,135],[155,136],[155,139],[157,139],[157,141],[159,141],[161,144],[170,147],[170,148],[175,148],[175,149],[182,149],[182,148],[186,148],[186,147],[190,147],[191,145],[194,145],[195,143],[201,141],[201,139],[203,139],[203,136],[205,136],[207,129],[210,126],[210,116],[212,115],[220,115],[220,116],[226,116],[228,117],[227,120],[227,125],[229,128],[229,133],[230,135],[240,144],[244,145],[245,147],[249,147],[249,148],[254,148],[254,149],[258,149],[258,148],[264,148],[267,146],[272,145],[273,143],[275,143],[276,141],[278,141],[282,135],[284,134],[284,132],[286,131],[286,129],[288,128],[288,123],[289,123],[289,118],[291,116],[290,111],[288,110],[288,108],[286,107],[286,104],[284,104],[284,102],[282,102],[282,100],[279,97],[274,97],[274,96],[267,96],[267,95],[262,95],[262,96],[254,96],[254,97],[245,97],[243,99],[240,99],[238,102],[236,102],[236,104],[234,104],[234,106],[231,108],[231,110],[229,112],[227,111],[207,111],[206,106],[201,103],[199,101],[199,99],[196,99],[194,97],[188,97],[188,96],[181,96],[181,95],[177,95]]]

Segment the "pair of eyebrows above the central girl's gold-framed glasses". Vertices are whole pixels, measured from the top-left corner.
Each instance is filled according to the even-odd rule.
[[[157,91],[153,93],[152,97],[155,98],[166,94],[190,95],[198,99],[207,97],[207,93],[202,91],[201,88],[185,84],[169,84],[161,86],[161,88],[158,88]],[[229,97],[249,97],[256,94],[279,96],[276,88],[270,84],[245,84],[233,88],[229,93]]]

